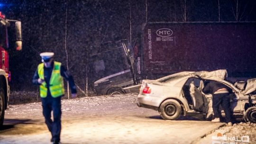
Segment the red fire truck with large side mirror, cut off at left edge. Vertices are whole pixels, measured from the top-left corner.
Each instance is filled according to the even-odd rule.
[[[9,48],[8,27],[15,22],[16,29],[16,50],[22,48],[21,38],[21,22],[5,18],[5,15],[0,11],[0,127],[4,121],[4,111],[7,108],[9,101],[9,54],[6,51]]]

